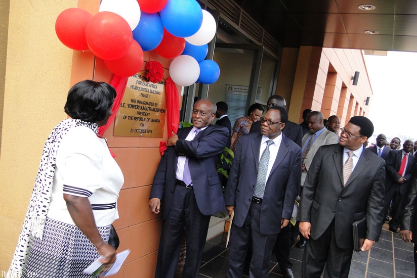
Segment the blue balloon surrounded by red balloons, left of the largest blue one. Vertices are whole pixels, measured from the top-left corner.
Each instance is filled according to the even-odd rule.
[[[132,31],[133,38],[139,43],[143,51],[154,50],[163,37],[163,25],[158,14],[148,14],[141,11],[138,26]]]

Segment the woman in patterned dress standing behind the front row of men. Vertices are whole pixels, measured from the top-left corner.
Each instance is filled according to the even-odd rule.
[[[249,134],[253,122],[259,120],[264,113],[264,108],[259,103],[255,103],[249,107],[247,111],[247,116],[236,119],[235,124],[233,125],[232,140],[230,143],[230,149],[235,152],[237,142],[239,142],[240,136],[243,134]]]

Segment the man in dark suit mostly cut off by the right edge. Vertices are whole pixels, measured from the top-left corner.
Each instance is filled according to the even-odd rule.
[[[417,277],[417,165],[413,166],[408,191],[404,198],[400,236],[405,242],[414,243],[414,277]],[[414,233],[414,236],[413,236]]]

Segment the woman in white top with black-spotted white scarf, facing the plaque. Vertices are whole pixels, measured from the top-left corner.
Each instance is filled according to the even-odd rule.
[[[84,80],[68,92],[59,123],[44,146],[32,197],[7,277],[95,277],[83,274],[100,255],[118,218],[123,174],[96,134],[112,115],[115,89]]]

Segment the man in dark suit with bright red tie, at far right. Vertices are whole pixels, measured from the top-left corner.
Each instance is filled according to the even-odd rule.
[[[391,220],[388,222],[389,230],[398,233],[401,221],[401,209],[404,195],[407,192],[411,169],[415,164],[415,157],[411,154],[414,143],[406,140],[402,150],[393,150],[387,159],[387,184],[384,211],[387,212],[392,200]]]

